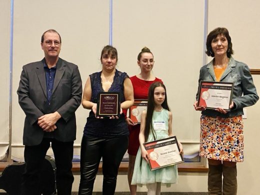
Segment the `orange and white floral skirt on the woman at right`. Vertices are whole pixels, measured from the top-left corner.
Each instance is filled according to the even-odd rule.
[[[242,116],[200,117],[199,155],[216,160],[243,161]]]

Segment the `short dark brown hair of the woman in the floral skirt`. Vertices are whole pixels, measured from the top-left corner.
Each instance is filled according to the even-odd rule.
[[[208,33],[208,35],[206,37],[206,51],[205,51],[205,53],[208,56],[211,56],[211,57],[215,56],[215,54],[212,50],[212,47],[211,47],[211,41],[214,38],[216,38],[219,34],[225,36],[226,39],[227,39],[228,46],[227,46],[226,55],[229,58],[234,53],[234,51],[232,49],[232,42],[231,42],[231,37],[229,36],[229,32],[224,27],[217,27],[217,28],[213,29],[211,32]]]

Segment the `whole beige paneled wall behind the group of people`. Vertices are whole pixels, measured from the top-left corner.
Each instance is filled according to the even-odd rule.
[[[1,99],[8,99],[9,7],[10,0],[0,1],[1,33],[0,62],[6,77],[1,80]],[[209,0],[208,31],[217,26],[228,28],[235,51],[234,58],[251,68],[260,68],[258,0]],[[113,0],[113,45],[118,49],[118,69],[129,75],[139,72],[137,53],[147,46],[154,54],[154,74],[162,78],[173,112],[173,131],[181,140],[199,139],[199,112],[193,110],[199,68],[203,57],[204,0]],[[13,152],[22,157],[21,136],[24,114],[17,103],[21,66],[40,60],[40,36],[54,28],[62,38],[60,56],[78,64],[84,83],[88,74],[100,70],[101,48],[108,44],[109,0],[16,0],[14,1],[13,42]],[[210,60],[210,58],[208,58]],[[253,75],[260,93],[260,75]],[[8,100],[1,115],[8,113]],[[1,104],[2,107],[2,104]],[[257,138],[259,137],[259,103],[246,108],[244,119],[245,161],[238,166],[238,194],[257,194],[260,171],[257,168]],[[81,106],[77,115],[76,154],[88,111]],[[3,120],[6,129],[8,118]],[[1,121],[2,122],[2,121]],[[15,146],[17,145],[17,146]],[[206,191],[205,173],[180,173],[178,184],[163,191]],[[79,175],[75,174],[73,191]],[[94,190],[100,191],[101,175]],[[126,173],[118,176],[117,191],[127,191]],[[145,191],[145,187],[139,189]]]

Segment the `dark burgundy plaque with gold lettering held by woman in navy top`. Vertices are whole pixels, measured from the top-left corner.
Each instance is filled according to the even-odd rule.
[[[97,95],[96,116],[119,116],[119,92],[99,92]]]

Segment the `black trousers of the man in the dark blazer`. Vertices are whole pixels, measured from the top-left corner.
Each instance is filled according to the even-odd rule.
[[[72,182],[74,180],[71,171],[73,158],[73,141],[62,142],[52,138],[43,138],[39,145],[25,145],[24,147],[25,170],[22,174],[21,181],[22,195],[41,194],[40,177],[41,174],[44,174],[44,172],[41,172],[42,162],[50,146],[50,142],[56,164],[57,194],[71,194]]]

